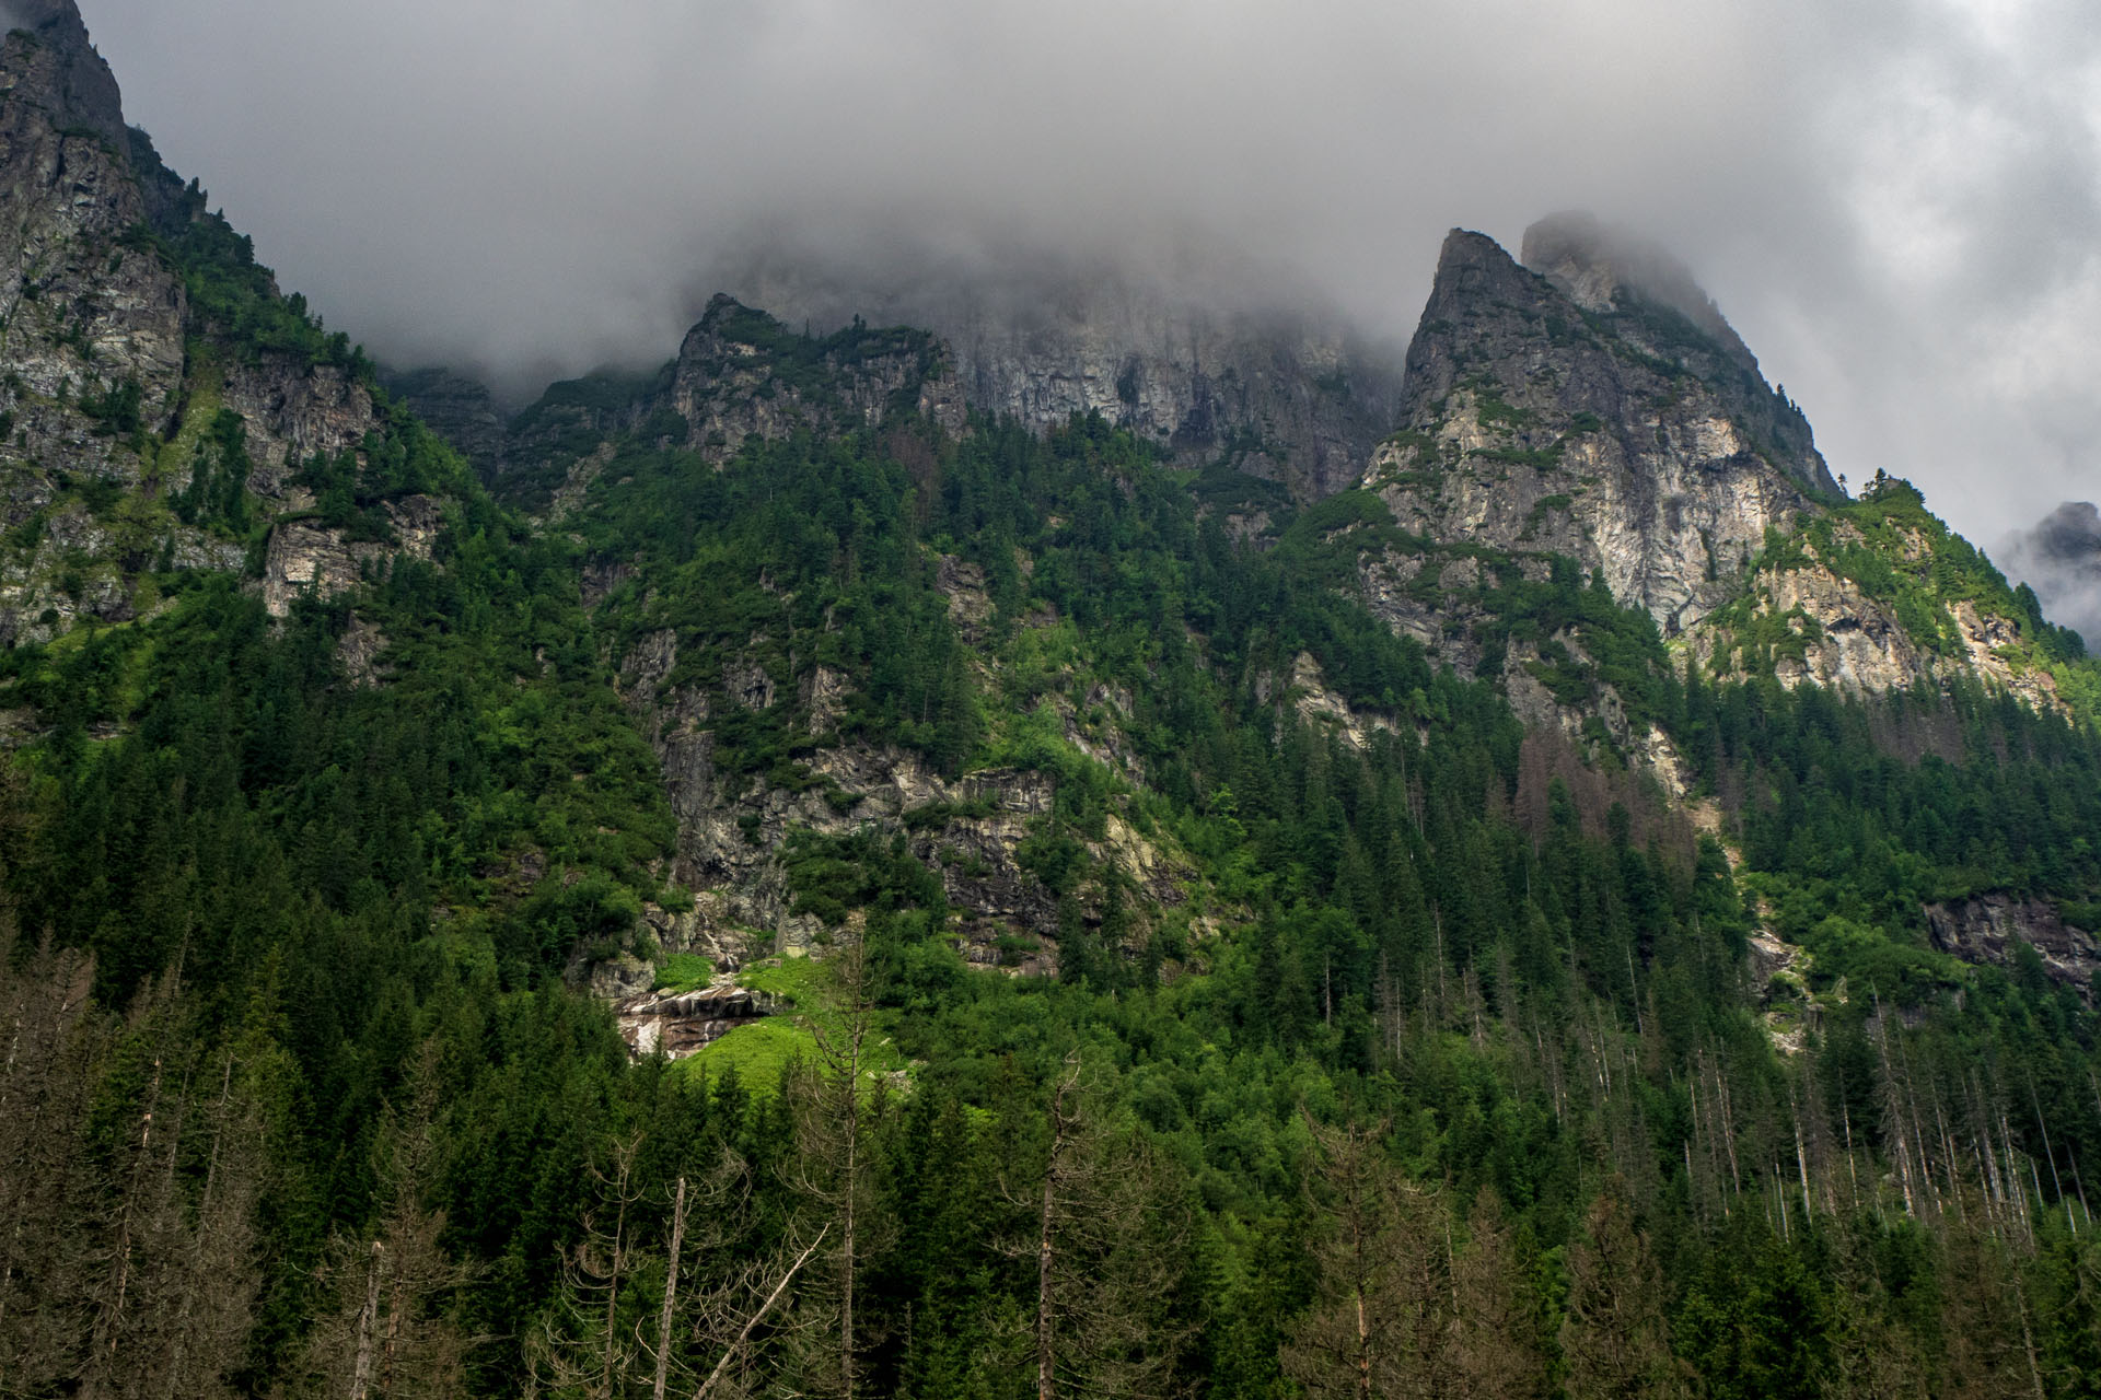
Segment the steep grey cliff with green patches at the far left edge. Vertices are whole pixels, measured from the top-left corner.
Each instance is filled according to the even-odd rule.
[[[17,0],[8,17],[0,644],[48,640],[82,619],[126,621],[155,604],[155,573],[244,565],[237,531],[172,508],[225,455],[214,451],[223,411],[244,428],[250,523],[311,506],[290,474],[313,453],[355,447],[376,422],[351,372],[221,344],[223,327],[189,304],[160,241],[206,218],[202,191],[126,130],[118,84],[71,0]]]

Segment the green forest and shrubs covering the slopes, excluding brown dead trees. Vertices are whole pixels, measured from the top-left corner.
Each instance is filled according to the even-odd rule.
[[[240,252],[206,260],[208,313],[248,327],[233,353],[313,353],[282,313],[242,300],[267,296]],[[857,359],[933,353],[861,325],[794,336],[733,306],[712,325],[758,348],[775,393],[805,397]],[[1656,334],[1698,353],[1670,325]],[[576,1257],[609,1142],[641,1142],[637,1238],[662,1234],[677,1180],[725,1148],[748,1163],[740,1232],[695,1261],[695,1287],[729,1285],[828,1219],[824,1192],[800,1190],[815,1127],[796,1087],[843,1026],[826,959],[740,970],[782,1014],[681,1066],[632,1060],[607,1012],[561,984],[578,959],[641,947],[645,905],[668,898],[658,758],[611,684],[643,657],[662,663],[660,697],[704,701],[689,714],[725,791],[866,810],[819,772],[847,741],[958,783],[899,821],[794,829],[782,850],[790,911],[824,926],[819,942],[859,940],[868,968],[857,1209],[872,1243],[853,1280],[870,1396],[1017,1390],[1036,1272],[1013,1240],[1034,1238],[1025,1203],[1050,1178],[1046,1106],[1067,1064],[1084,1070],[1074,1091],[1099,1161],[1153,1190],[1128,1234],[1172,1261],[1149,1299],[1158,1350],[1177,1383],[1214,1396],[1290,1394],[1282,1341],[1328,1282],[1309,1247],[1328,1209],[1307,1190],[1313,1125],[1353,1123],[1382,1178],[1439,1184],[1424,1238],[1445,1247],[1424,1257],[1469,1257],[1452,1203],[1492,1190],[1540,1335],[1569,1308],[1567,1261],[1597,1245],[1586,1203],[1624,1175],[1647,1238],[1635,1253],[1653,1255],[1666,1293],[1645,1308],[1717,1396],[1834,1383],[1868,1324],[1931,1341],[1922,1375],[1941,1379],[1937,1308],[1967,1276],[1897,1205],[1889,1104],[1908,1087],[1960,1106],[1960,1133],[2000,1094],[1971,1077],[1983,1066],[1992,1085],[2030,1087],[2053,1136],[2044,1148],[2000,1094],[2015,1110],[1994,1161],[2101,1161],[2082,1102],[2101,1037],[2078,993],[2036,957],[1967,968],[1925,928],[1925,905],[1973,894],[2055,900],[2074,921],[2101,907],[2088,726],[1967,688],[1870,705],[1681,680],[1647,615],[1599,577],[1548,560],[1527,581],[1523,560],[1479,554],[1483,672],[1523,646],[1557,699],[1595,712],[1609,688],[1637,730],[1664,730],[1740,877],[1723,840],[1696,837],[1607,745],[1586,762],[1559,730],[1527,737],[1492,680],[1433,667],[1349,596],[1368,554],[1427,552],[1374,493],[1294,510],[1223,468],[1191,481],[1099,418],[1044,437],[981,420],[966,441],[893,418],[882,434],[752,443],[716,470],[668,420],[616,422],[630,390],[586,380],[536,409],[544,464],[611,447],[557,535],[529,533],[391,411],[361,453],[309,462],[303,481],[324,521],[374,542],[389,502],[443,497],[431,563],[387,556],[353,598],[284,621],[200,577],[162,615],[0,663],[0,699],[42,730],[0,775],[15,917],[95,953],[111,1022],[179,980],[187,1020],[170,1035],[240,1045],[267,1104],[250,1390],[296,1383],[326,1310],[326,1240],[368,1238],[384,1211],[374,1161],[424,1058],[441,1110],[420,1188],[443,1211],[441,1247],[477,1266],[458,1320],[490,1339],[473,1394],[527,1390],[521,1339]],[[206,407],[176,508],[237,535],[252,529],[229,485],[246,481],[244,439]],[[1258,542],[1221,518],[1252,512],[1271,518]],[[1895,542],[1876,531],[1925,529],[1897,491],[1840,525],[1868,544],[1775,539],[1769,556],[1830,548],[1895,598],[2034,615],[1960,550],[1922,577],[1874,575],[1866,554],[1887,565]],[[586,571],[609,579],[592,613]],[[353,609],[384,638],[368,684],[340,661]],[[1801,632],[1748,642],[1777,651]],[[1359,709],[1361,743],[1301,720],[1303,657]],[[929,861],[948,865],[956,823],[1015,812],[1017,791],[1048,793],[1015,852],[1019,900],[1055,915],[966,930]],[[748,837],[765,829],[754,819]],[[1130,831],[1166,856],[1143,884],[1099,858]],[[1805,955],[1780,978],[1786,1007],[1750,987],[1761,930]],[[1059,976],[973,972],[964,932],[1008,966],[1055,957]],[[710,976],[679,955],[660,984]],[[1805,1026],[1798,1056],[1767,1039],[1761,1018],[1782,1012]],[[153,1064],[139,1037],[84,1100],[103,1159],[139,1121]],[[899,1073],[910,1091],[893,1096]],[[1819,1201],[1788,1224],[1773,1209],[1798,1205],[1798,1144],[1819,1154],[1819,1196],[1851,1215]],[[1939,1157],[1935,1171],[1969,1171]],[[2093,1270],[2051,1238],[2046,1180],[2032,1175],[2053,1209],[2034,1213],[2025,1274],[2055,1310],[2038,1306],[2038,1352],[2082,1377]],[[660,1278],[628,1295],[635,1318]],[[754,1375],[786,1364],[784,1337],[836,1316],[836,1282],[788,1299],[792,1327],[754,1341]]]

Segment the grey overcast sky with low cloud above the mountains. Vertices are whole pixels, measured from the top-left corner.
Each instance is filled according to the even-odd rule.
[[[1452,225],[1674,248],[1832,470],[2101,495],[2093,0],[82,0],[126,115],[393,361],[672,355],[750,231],[1216,239],[1406,336]]]

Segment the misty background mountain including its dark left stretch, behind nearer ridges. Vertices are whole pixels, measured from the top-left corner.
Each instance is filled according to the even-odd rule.
[[[1225,460],[1296,500],[1317,500],[1357,479],[1395,420],[1397,348],[1355,332],[1340,313],[1307,311],[1311,298],[1204,302],[1174,279],[1093,267],[937,275],[758,264],[723,277],[748,309],[779,323],[775,334],[870,323],[933,332],[952,380],[943,388],[952,428],[964,409],[1036,430],[1099,413],[1185,466]],[[1240,283],[1210,273],[1204,285]],[[719,292],[700,327],[744,304]],[[515,476],[504,489],[529,491],[550,458],[565,468],[592,432],[664,407],[691,418],[693,361],[710,353],[691,340],[681,348],[687,384],[677,401],[664,397],[662,376],[601,372],[544,395],[502,432],[492,428],[487,390],[473,380],[427,369],[389,386],[485,481]]]

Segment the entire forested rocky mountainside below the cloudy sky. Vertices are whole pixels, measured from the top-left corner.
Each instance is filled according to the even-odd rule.
[[[2090,1394],[2101,665],[1664,254],[498,432],[11,15],[0,1390]]]

